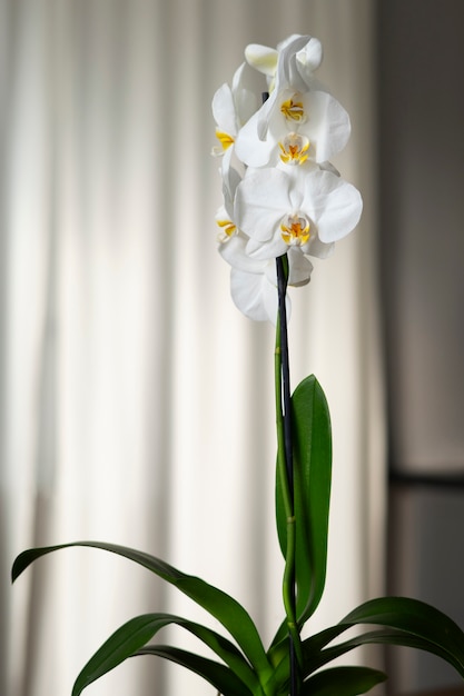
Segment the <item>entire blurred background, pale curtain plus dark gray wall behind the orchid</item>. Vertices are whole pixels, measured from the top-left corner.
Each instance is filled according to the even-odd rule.
[[[210,101],[247,43],[319,38],[353,135],[357,230],[293,294],[292,379],[334,428],[327,591],[309,630],[381,594],[464,626],[464,47],[460,0],[0,0],[0,693],[70,694],[125,620],[203,620],[160,556],[282,619],[273,327],[229,299]],[[162,643],[197,648],[179,632]],[[458,684],[359,652],[391,694]],[[345,660],[346,662],[346,660]],[[210,693],[157,658],[89,696]]]

